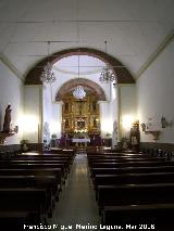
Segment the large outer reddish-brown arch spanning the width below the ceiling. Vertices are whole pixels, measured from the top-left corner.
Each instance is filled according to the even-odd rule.
[[[57,61],[71,56],[71,55],[89,55],[94,57],[98,57],[99,60],[103,61],[104,63],[109,64],[113,67],[113,72],[116,74],[117,84],[135,84],[135,79],[133,78],[129,70],[115,57],[90,48],[74,48],[74,49],[66,49],[60,52],[52,54],[49,57],[49,61],[53,64]],[[34,68],[29,70],[25,78],[25,85],[42,85],[40,81],[40,75],[44,70],[44,66],[46,65],[48,57],[40,61]]]

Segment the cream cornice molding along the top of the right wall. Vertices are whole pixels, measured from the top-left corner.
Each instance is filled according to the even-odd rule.
[[[172,31],[166,38],[160,43],[157,50],[150,55],[141,68],[137,72],[136,79],[141,77],[145,70],[157,60],[157,57],[163,52],[163,50],[174,40],[174,31]]]

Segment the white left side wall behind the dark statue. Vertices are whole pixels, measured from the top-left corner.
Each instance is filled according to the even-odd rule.
[[[4,111],[8,104],[12,106],[12,128],[18,126],[18,133],[7,139],[5,144],[20,143],[23,129],[21,117],[23,114],[23,82],[0,61],[0,130],[3,129]]]

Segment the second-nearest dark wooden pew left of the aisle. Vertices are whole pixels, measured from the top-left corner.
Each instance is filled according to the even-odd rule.
[[[47,190],[34,188],[0,189],[1,211],[24,211],[35,214],[36,221],[46,220]]]

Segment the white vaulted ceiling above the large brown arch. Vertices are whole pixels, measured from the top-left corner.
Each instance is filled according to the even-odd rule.
[[[104,40],[136,77],[173,28],[173,0],[0,0],[1,56],[23,77],[47,56],[47,41],[55,53],[104,51]]]

